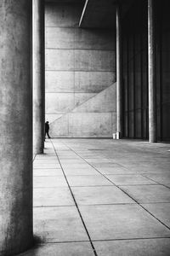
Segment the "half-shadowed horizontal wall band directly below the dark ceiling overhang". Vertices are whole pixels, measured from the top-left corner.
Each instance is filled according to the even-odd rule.
[[[94,42],[94,44],[92,44]],[[114,34],[101,29],[47,27],[46,48],[51,49],[116,49]]]

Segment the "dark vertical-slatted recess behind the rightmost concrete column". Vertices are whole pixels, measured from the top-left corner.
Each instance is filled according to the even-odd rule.
[[[170,16],[156,0],[156,108],[158,140],[170,140]],[[148,139],[147,1],[134,1],[123,19],[124,137]]]

